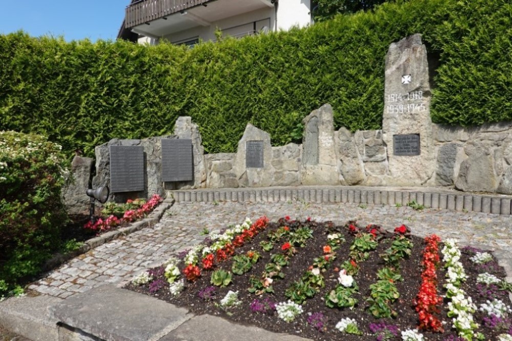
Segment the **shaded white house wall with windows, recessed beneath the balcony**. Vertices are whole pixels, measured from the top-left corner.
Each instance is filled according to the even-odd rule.
[[[266,20],[269,19],[269,20]],[[257,22],[257,30],[261,30],[264,22],[269,22],[269,29],[275,27],[275,10],[274,8],[263,8],[260,10],[247,12],[241,15],[232,16],[223,20],[214,21],[210,26],[197,26],[195,28],[173,33],[163,38],[173,42],[180,43],[195,38],[201,38],[203,41],[216,40],[215,31],[217,28],[224,30],[226,35],[243,35],[247,31],[253,30],[253,22]]]

